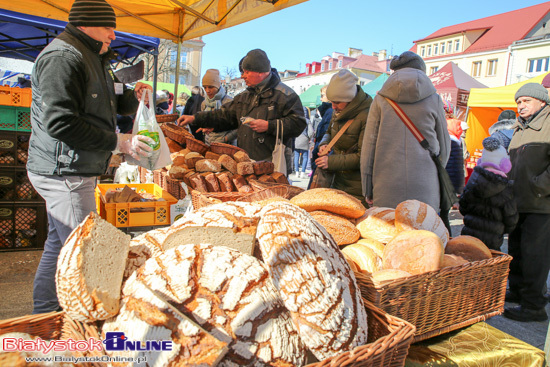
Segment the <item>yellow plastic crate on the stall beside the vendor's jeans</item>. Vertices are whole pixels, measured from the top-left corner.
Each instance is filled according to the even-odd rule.
[[[128,186],[155,195],[164,201],[136,203],[106,203],[105,193],[109,189]],[[155,184],[98,184],[96,205],[101,218],[115,227],[143,227],[170,225],[170,205],[177,199]]]

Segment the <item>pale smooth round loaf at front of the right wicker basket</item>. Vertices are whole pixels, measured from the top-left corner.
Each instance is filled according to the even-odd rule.
[[[425,230],[403,231],[384,249],[384,269],[400,269],[421,274],[441,268],[443,243],[435,233]]]

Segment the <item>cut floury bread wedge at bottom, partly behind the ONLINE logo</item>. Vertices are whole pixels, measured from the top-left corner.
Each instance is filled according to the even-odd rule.
[[[102,339],[107,332],[123,332],[129,341],[172,340],[172,348],[155,352],[108,351],[111,357],[147,358],[149,366],[157,367],[216,366],[227,353],[228,336],[218,339],[174,310],[136,273],[124,285],[124,293],[119,314],[102,327]]]

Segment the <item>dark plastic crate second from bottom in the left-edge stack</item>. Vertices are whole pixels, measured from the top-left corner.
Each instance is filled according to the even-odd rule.
[[[0,168],[0,202],[6,201],[43,201],[25,168]]]

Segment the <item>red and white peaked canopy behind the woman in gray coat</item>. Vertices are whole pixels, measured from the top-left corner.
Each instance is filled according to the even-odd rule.
[[[472,78],[452,61],[430,75],[430,80],[437,90],[437,94],[459,109],[466,109],[470,89],[487,88],[485,84]]]

